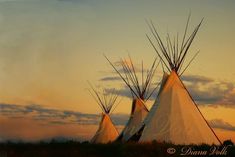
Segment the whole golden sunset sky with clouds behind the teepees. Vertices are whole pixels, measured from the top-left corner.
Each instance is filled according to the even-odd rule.
[[[235,142],[234,0],[0,0],[0,141],[89,140],[101,110],[87,80],[121,91],[112,115],[121,130],[131,99],[103,54],[150,66],[157,54],[145,21],[182,37],[190,12],[189,31],[204,21],[182,80],[220,139]]]

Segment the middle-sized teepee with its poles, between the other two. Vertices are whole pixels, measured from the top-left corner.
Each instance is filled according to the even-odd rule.
[[[121,70],[118,70],[107,57],[106,59],[130,89],[133,97],[130,118],[117,140],[128,141],[130,139],[136,139],[133,136],[140,136],[141,131],[138,129],[141,127],[143,120],[149,112],[145,106],[145,102],[157,88],[152,88],[151,85],[158,64],[156,64],[155,59],[151,68],[147,70],[146,76],[144,76],[145,70],[143,69],[142,62],[141,79],[138,79],[139,75],[137,75],[137,69],[134,67],[130,57],[128,61],[121,59]]]

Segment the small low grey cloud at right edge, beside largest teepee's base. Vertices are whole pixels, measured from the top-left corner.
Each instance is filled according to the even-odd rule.
[[[235,126],[223,121],[222,119],[213,119],[208,122],[212,128],[235,131]]]

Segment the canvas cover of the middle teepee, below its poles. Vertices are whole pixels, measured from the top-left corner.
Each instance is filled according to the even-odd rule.
[[[142,126],[142,123],[148,114],[148,109],[140,99],[134,99],[132,102],[132,111],[127,125],[122,131],[122,140],[128,141]]]

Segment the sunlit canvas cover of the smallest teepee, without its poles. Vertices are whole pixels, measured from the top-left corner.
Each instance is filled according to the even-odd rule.
[[[109,115],[103,113],[99,128],[92,138],[91,143],[108,143],[114,141],[117,137],[118,131]]]

